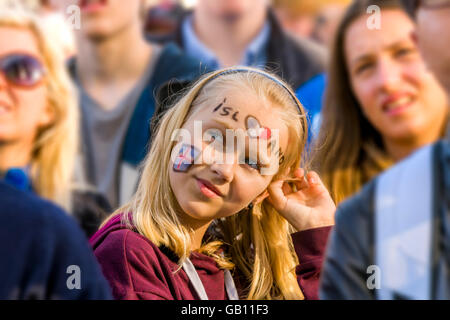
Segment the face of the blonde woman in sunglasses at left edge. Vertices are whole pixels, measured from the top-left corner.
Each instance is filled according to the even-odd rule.
[[[0,27],[0,61],[13,54],[33,57],[42,64],[35,37],[27,29]],[[12,61],[11,59],[9,61]],[[16,59],[16,61],[18,61]],[[45,79],[36,84],[24,87],[8,80],[5,72],[14,79],[33,79],[32,68],[20,63],[8,63],[8,70],[0,71],[0,144],[20,142],[32,145],[38,129],[48,125],[52,120],[51,108],[48,105]],[[32,63],[28,64],[30,67]]]

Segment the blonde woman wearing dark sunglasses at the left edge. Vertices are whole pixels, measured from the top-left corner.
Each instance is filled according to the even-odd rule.
[[[0,179],[72,212],[87,234],[108,204],[75,191],[76,93],[62,52],[41,20],[20,7],[0,9]],[[74,202],[80,205],[74,205]]]

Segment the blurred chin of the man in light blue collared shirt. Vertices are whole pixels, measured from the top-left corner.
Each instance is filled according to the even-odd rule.
[[[267,5],[268,0],[198,0],[197,3],[198,7],[218,19],[231,22]]]

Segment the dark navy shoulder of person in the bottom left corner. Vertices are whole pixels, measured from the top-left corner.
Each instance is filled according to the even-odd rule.
[[[0,234],[8,240],[1,242],[0,250],[5,252],[5,259],[14,260],[11,265],[0,264],[0,268],[9,273],[12,282],[23,277],[23,265],[33,265],[35,268],[27,274],[25,285],[47,288],[52,284],[47,298],[110,296],[86,236],[63,209],[2,183],[0,208]],[[66,286],[67,270],[74,266],[83,270],[81,291],[68,290]],[[21,290],[18,297],[28,297],[25,288]]]

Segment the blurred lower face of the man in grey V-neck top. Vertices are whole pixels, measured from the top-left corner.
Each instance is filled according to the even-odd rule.
[[[91,39],[114,36],[136,22],[141,23],[143,0],[64,0],[81,9],[81,32]]]

